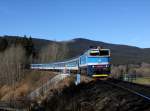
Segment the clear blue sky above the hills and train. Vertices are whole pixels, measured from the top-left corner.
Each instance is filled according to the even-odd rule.
[[[150,48],[150,0],[0,0],[0,35]]]

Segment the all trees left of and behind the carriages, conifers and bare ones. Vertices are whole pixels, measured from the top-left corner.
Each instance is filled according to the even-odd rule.
[[[66,42],[51,42],[36,49],[31,37],[0,38],[0,85],[14,85],[26,74],[31,63],[50,63],[64,60],[68,54]]]

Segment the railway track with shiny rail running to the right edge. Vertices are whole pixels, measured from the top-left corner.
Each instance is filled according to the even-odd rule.
[[[149,86],[138,85],[135,83],[115,80],[115,79],[109,79],[104,82],[114,87],[133,93],[134,95],[137,95],[150,102],[150,87]]]

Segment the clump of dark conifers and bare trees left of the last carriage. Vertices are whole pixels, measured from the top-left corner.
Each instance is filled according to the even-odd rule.
[[[0,38],[0,85],[12,85],[24,77],[25,68],[29,68],[34,55],[31,37]]]

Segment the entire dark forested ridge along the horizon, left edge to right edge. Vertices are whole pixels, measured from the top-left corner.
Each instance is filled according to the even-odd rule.
[[[1,36],[0,45],[2,39],[6,39],[8,44],[14,44],[16,39],[24,39],[25,37],[19,36]],[[56,41],[44,40],[32,38],[34,48],[38,52],[42,47],[47,46]],[[63,42],[67,44],[69,49],[67,59],[81,55],[90,46],[102,46],[104,48],[111,49],[112,63],[113,64],[137,64],[142,62],[150,63],[150,48],[139,48],[128,45],[116,45],[111,43],[105,43],[101,41],[93,41],[83,38],[76,38],[70,41],[60,41],[57,43],[61,45]]]

